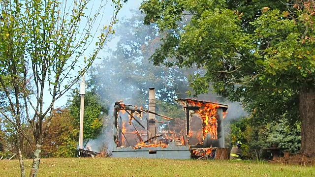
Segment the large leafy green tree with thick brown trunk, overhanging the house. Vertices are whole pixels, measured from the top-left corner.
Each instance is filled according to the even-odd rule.
[[[145,24],[168,31],[151,58],[155,64],[204,68],[191,77],[194,95],[212,83],[217,93],[271,119],[293,107],[301,118],[300,152],[315,156],[314,1],[271,2],[147,0],[140,8]]]

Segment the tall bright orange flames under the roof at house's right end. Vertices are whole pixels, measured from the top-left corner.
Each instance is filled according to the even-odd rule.
[[[208,103],[208,102],[194,101],[194,100],[189,100],[189,99],[187,99],[187,103],[189,104],[189,106],[199,107],[199,110],[195,112],[197,112],[200,118],[202,119],[202,133],[203,133],[202,140],[206,138],[208,133],[210,133],[211,139],[217,140],[218,139],[217,109],[219,108],[219,106]],[[193,130],[191,130],[191,134],[194,135]]]

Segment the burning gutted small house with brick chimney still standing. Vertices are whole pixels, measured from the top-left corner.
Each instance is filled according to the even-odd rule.
[[[223,118],[227,105],[175,100],[183,106],[185,118],[156,113],[154,88],[149,90],[149,109],[116,102],[113,156],[189,159],[212,156],[217,148],[224,148]],[[173,121],[178,126],[172,129]]]

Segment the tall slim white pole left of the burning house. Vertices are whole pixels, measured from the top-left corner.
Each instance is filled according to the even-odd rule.
[[[84,95],[85,95],[85,83],[84,76],[80,83],[80,95],[81,95],[81,107],[80,107],[80,135],[79,135],[79,148],[83,148],[83,118],[84,118]]]

